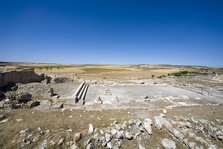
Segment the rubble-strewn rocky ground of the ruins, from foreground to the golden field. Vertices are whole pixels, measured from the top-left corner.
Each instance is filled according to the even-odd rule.
[[[0,92],[0,148],[223,148],[219,78],[85,80],[84,105],[83,79],[16,84]]]

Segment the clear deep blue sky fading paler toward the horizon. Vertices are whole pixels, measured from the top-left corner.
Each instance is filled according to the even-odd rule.
[[[223,66],[223,1],[0,0],[0,61]]]

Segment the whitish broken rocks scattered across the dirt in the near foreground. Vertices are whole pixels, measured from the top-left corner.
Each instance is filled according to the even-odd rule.
[[[1,116],[3,117],[3,116]],[[154,117],[154,120],[157,117]],[[160,117],[159,117],[160,118]],[[203,130],[202,133],[204,133],[206,136],[209,136],[208,130],[209,125],[211,125],[215,130],[216,136],[222,135],[222,127],[214,124],[213,122],[204,120],[204,119],[195,119],[192,118],[187,119],[186,121],[182,120],[168,120],[166,118],[163,118],[162,121],[167,122],[174,122],[174,128],[172,131],[166,127],[166,123],[162,123],[163,127],[162,130],[157,128],[156,125],[153,126],[153,121],[150,118],[145,118],[144,120],[139,119],[130,119],[129,121],[124,121],[122,123],[118,123],[117,121],[114,121],[111,126],[99,129],[95,128],[93,124],[89,124],[88,126],[88,133],[81,133],[76,132],[73,134],[73,129],[69,128],[66,130],[66,132],[69,132],[69,134],[73,134],[73,139],[70,138],[70,135],[67,137],[59,137],[57,141],[54,140],[44,140],[42,139],[44,136],[48,136],[48,134],[52,135],[51,131],[48,129],[43,130],[42,128],[38,127],[37,131],[30,130],[29,128],[25,128],[20,130],[18,133],[18,140],[20,141],[21,147],[28,147],[32,143],[39,142],[40,140],[44,140],[42,143],[40,143],[40,146],[48,146],[49,144],[56,145],[56,146],[69,146],[70,148],[82,148],[84,145],[86,148],[120,148],[125,140],[128,141],[137,141],[140,140],[138,144],[139,149],[145,149],[147,148],[145,144],[147,144],[147,140],[153,137],[154,134],[152,134],[152,129],[157,129],[158,131],[165,131],[169,134],[170,138],[162,138],[160,137],[160,146],[162,146],[165,149],[176,149],[177,144],[180,143],[185,148],[191,148],[191,149],[198,149],[198,148],[210,148],[214,149],[217,148],[217,145],[210,144],[210,139],[214,139],[213,137],[200,137],[197,136],[196,130],[198,129],[197,126],[204,126],[207,128],[206,130]],[[197,123],[194,123],[197,122]],[[1,122],[3,123],[3,122]],[[184,123],[184,125],[183,125]],[[192,127],[188,127],[188,123],[192,125]],[[183,134],[183,129],[187,129],[187,131],[194,131],[195,137],[191,138],[188,135],[188,132],[186,134]],[[149,136],[145,135],[145,132],[149,134]],[[45,137],[44,137],[45,138]],[[70,139],[69,139],[70,138]],[[171,139],[172,138],[172,139]],[[68,139],[68,140],[67,140]],[[65,141],[66,140],[66,141]]]

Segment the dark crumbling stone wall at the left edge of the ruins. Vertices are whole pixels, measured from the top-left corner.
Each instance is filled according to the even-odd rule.
[[[0,88],[9,83],[30,83],[41,82],[42,80],[44,80],[44,75],[36,74],[31,68],[0,72]]]

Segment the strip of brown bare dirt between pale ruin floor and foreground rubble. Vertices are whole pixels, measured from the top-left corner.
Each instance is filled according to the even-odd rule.
[[[223,120],[222,106],[205,106],[205,107],[180,107],[168,110],[167,118],[175,118],[181,116],[184,118],[199,117],[205,118],[219,123],[216,119]],[[103,129],[109,127],[110,124],[117,120],[123,122],[130,119],[143,119],[145,117],[152,118],[158,115],[161,110],[150,109],[118,109],[118,110],[13,110],[10,112],[1,112],[7,116],[9,121],[0,125],[0,142],[1,148],[18,148],[16,140],[20,130],[28,128],[35,133],[40,127],[42,130],[51,130],[51,135],[59,139],[65,137],[72,140],[75,132],[82,132],[87,135],[88,124],[92,123],[96,128]],[[176,115],[176,113],[178,113]],[[23,121],[17,122],[16,119]],[[222,123],[223,124],[223,123]],[[222,125],[221,124],[221,125]],[[66,130],[72,129],[74,132],[67,133]],[[10,135],[9,135],[10,134]],[[45,135],[38,141],[41,143],[48,136]],[[144,144],[147,148],[161,147],[159,141],[163,138],[172,138],[167,132],[153,129],[153,135]],[[29,148],[38,147],[38,143],[29,146]],[[219,147],[223,147],[221,141],[214,141]],[[137,148],[137,142],[125,142],[122,148]],[[178,148],[184,148],[181,144],[177,144]],[[67,148],[63,146],[62,148]]]

